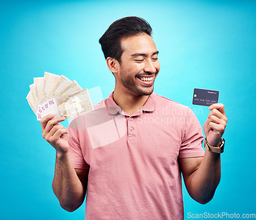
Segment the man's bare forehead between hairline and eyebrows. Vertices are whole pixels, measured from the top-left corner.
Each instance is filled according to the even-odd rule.
[[[153,54],[157,51],[152,37],[148,34],[141,34],[121,39],[121,47],[125,56],[131,56],[135,53]]]

